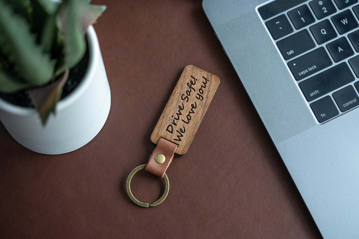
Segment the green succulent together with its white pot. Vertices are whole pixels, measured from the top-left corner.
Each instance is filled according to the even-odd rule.
[[[106,6],[89,2],[0,0],[0,120],[33,151],[73,151],[106,122],[111,94],[91,25]]]

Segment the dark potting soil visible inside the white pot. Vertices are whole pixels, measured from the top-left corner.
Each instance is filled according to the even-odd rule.
[[[67,95],[73,92],[76,86],[78,86],[81,82],[82,78],[84,78],[87,66],[89,64],[89,58],[90,55],[87,47],[84,57],[76,66],[70,70],[69,79],[67,79],[66,84],[62,89],[61,99],[64,99]],[[11,94],[0,93],[0,97],[7,102],[17,106],[34,108],[25,90],[20,90]]]

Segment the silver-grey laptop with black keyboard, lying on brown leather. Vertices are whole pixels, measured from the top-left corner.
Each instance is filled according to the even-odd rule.
[[[323,238],[359,238],[358,0],[204,0]]]

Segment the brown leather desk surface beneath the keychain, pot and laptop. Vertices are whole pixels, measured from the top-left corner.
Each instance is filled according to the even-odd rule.
[[[99,134],[63,155],[25,149],[0,124],[0,238],[320,238],[270,137],[227,60],[201,1],[93,0],[111,87]],[[148,161],[151,133],[183,68],[221,84],[169,193],[141,208],[127,196]],[[154,202],[164,182],[144,170],[134,196]]]

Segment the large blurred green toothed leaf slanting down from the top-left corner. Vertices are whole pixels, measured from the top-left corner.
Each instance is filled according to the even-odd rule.
[[[26,83],[41,86],[53,76],[55,60],[42,52],[29,30],[29,25],[9,6],[0,1],[0,50],[14,64],[14,70]]]

